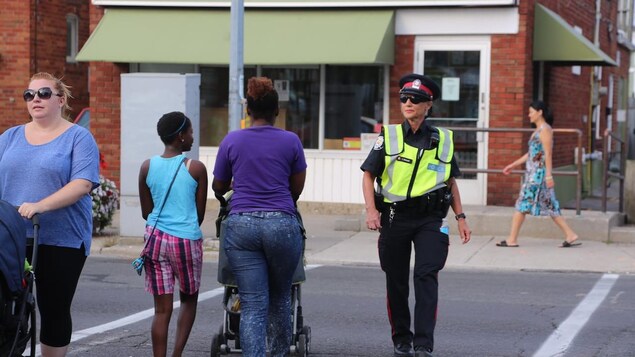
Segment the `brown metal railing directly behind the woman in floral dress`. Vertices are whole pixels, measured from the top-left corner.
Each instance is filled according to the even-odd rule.
[[[446,127],[452,131],[466,131],[466,132],[495,132],[495,133],[522,133],[522,132],[533,132],[536,129],[531,128],[466,128],[466,127]],[[564,134],[577,134],[578,135],[578,144],[577,144],[577,159],[576,159],[576,170],[575,171],[552,171],[552,175],[556,176],[575,176],[576,177],[576,188],[575,188],[575,209],[576,214],[579,216],[581,212],[581,204],[582,204],[582,130],[580,129],[553,129],[554,133],[564,133]],[[605,140],[606,143],[606,140]],[[500,174],[503,173],[502,169],[479,169],[479,168],[461,168],[461,172],[466,173],[487,173],[487,174]],[[512,170],[511,173],[514,174],[524,174],[525,170]],[[621,196],[620,196],[621,197]]]

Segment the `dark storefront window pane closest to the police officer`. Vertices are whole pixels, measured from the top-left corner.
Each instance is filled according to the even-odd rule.
[[[383,67],[326,66],[324,149],[360,150],[382,124]]]

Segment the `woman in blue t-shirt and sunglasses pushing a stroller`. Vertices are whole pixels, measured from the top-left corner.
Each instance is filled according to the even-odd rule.
[[[68,350],[71,303],[92,239],[90,191],[99,185],[95,139],[64,117],[70,97],[58,78],[33,75],[23,93],[31,121],[0,135],[0,199],[23,217],[40,215],[35,275],[44,357]]]

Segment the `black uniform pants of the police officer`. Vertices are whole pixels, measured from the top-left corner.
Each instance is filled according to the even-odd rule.
[[[388,319],[393,343],[434,347],[439,283],[438,272],[448,257],[449,239],[440,231],[441,218],[395,213],[392,222],[387,212],[381,215],[379,261],[386,273]],[[410,330],[408,306],[410,254],[415,250],[414,335]]]

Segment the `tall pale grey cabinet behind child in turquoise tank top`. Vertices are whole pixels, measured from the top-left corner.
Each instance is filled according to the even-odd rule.
[[[198,73],[126,73],[121,75],[121,178],[119,234],[143,236],[145,221],[139,202],[139,167],[163,152],[157,135],[159,118],[181,111],[190,118],[194,137],[199,135],[201,75]],[[196,141],[185,153],[199,157]]]

